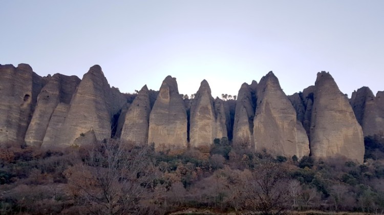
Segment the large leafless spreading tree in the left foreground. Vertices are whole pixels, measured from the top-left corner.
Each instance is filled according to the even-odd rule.
[[[143,213],[140,203],[154,190],[156,168],[149,146],[118,140],[95,143],[84,162],[66,171],[75,199],[93,214]]]

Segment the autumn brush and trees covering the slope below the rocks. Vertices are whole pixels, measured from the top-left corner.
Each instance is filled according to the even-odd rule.
[[[7,145],[0,150],[0,213],[382,213],[383,143],[366,138],[364,164],[256,153],[227,138],[209,150],[164,153],[114,139],[63,152]]]

